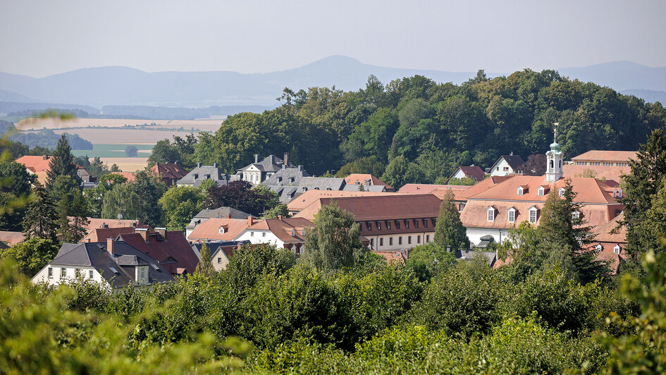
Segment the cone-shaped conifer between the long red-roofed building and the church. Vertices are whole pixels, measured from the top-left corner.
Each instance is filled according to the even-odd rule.
[[[434,240],[442,248],[450,246],[451,250],[469,249],[467,229],[462,225],[460,215],[455,209],[455,198],[451,190],[445,193],[440,204]]]

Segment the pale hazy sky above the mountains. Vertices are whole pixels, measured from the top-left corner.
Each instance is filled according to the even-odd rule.
[[[666,1],[1,0],[0,71],[94,66],[264,73],[341,54],[510,73],[666,66]]]

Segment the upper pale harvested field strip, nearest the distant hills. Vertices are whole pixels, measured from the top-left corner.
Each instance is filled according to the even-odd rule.
[[[175,128],[191,130],[218,130],[222,123],[219,118],[206,118],[203,120],[132,120],[129,118],[72,118],[60,120],[58,118],[25,118],[16,124],[19,130],[42,130],[59,128],[80,128],[85,126],[107,126],[121,128],[125,125],[143,125],[156,123],[155,128]],[[68,131],[68,133],[78,133]]]

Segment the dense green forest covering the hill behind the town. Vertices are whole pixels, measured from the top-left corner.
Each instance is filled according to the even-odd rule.
[[[253,154],[290,152],[294,164],[321,175],[365,157],[395,164],[392,170],[410,176],[405,182],[443,183],[459,165],[488,167],[511,152],[524,159],[543,154],[555,122],[567,157],[590,149],[635,150],[666,125],[660,103],[553,70],[493,79],[480,70],[462,85],[419,75],[384,85],[371,76],[356,92],[287,88],[279,99],[283,104],[271,111],[230,116],[189,152],[171,149],[164,157],[158,147],[153,159],[216,162],[233,173]]]

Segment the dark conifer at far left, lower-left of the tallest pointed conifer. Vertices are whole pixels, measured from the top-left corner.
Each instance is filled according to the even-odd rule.
[[[39,182],[32,188],[30,203],[23,219],[25,238],[44,238],[56,240],[56,208],[46,189]]]

